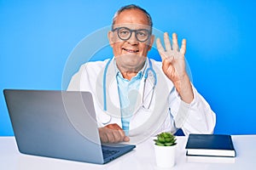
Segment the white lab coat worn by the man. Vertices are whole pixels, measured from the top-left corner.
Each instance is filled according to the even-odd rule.
[[[94,99],[99,127],[110,123],[117,123],[119,127],[122,127],[113,59],[108,65],[106,74],[107,112],[103,111],[103,75],[107,62],[108,59],[82,65],[72,77],[67,90],[90,91]],[[137,104],[150,105],[148,109],[140,106],[135,111],[131,117],[129,134],[136,136],[139,133],[147,132],[153,135],[162,131],[175,133],[177,128],[182,128],[186,135],[189,133],[213,133],[216,122],[215,113],[201,94],[192,86],[194,100],[191,104],[185,104],[178,96],[172,81],[161,70],[161,62],[154,59],[151,59],[151,62],[157,76],[156,88],[154,94],[151,93],[154,79],[148,76],[144,96],[149,97],[145,97],[143,100],[144,78],[142,79],[139,88],[141,98],[137,99]],[[150,93],[153,94],[152,102],[150,102],[152,97]]]

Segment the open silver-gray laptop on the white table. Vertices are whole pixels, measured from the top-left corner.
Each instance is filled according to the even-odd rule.
[[[3,90],[20,153],[104,164],[133,144],[101,144],[89,92]]]

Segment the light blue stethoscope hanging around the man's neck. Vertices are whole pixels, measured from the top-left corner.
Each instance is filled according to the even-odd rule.
[[[106,92],[106,76],[107,76],[107,71],[108,71],[108,65],[110,64],[112,59],[108,60],[107,65],[105,66],[104,69],[104,73],[103,73],[103,104],[104,104],[104,111],[107,111],[107,92]],[[144,103],[144,94],[145,94],[145,88],[146,88],[146,80],[148,79],[148,75],[150,75],[150,77],[154,77],[154,85],[153,85],[153,89],[152,89],[152,95],[151,95],[151,99],[149,100],[149,105],[148,107],[145,107],[143,105],[144,109],[149,109],[149,106],[151,105],[152,99],[153,99],[153,94],[154,94],[154,88],[156,86],[157,83],[157,78],[156,78],[156,73],[152,67],[152,62],[150,59],[148,59],[148,63],[149,63],[149,67],[148,69],[145,71],[144,73],[144,87],[143,87],[143,103]]]

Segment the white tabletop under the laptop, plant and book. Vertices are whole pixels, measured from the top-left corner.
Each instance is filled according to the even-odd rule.
[[[176,165],[172,169],[252,169],[256,166],[256,135],[232,136],[237,156],[200,157],[185,156],[186,137],[177,137]],[[66,161],[42,156],[20,154],[14,137],[0,137],[0,169],[161,169],[156,167],[152,139],[137,144],[137,148],[125,156],[106,165],[96,165],[79,161]]]

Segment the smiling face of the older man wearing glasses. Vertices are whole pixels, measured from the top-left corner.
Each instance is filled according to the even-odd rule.
[[[131,32],[131,37],[127,40],[121,40],[118,36],[116,28],[126,27]],[[141,32],[135,30],[146,29],[151,30],[148,26],[148,18],[143,11],[139,9],[127,9],[122,11],[117,17],[113,25],[113,30],[108,32],[108,40],[113,48],[113,55],[116,59],[117,65],[125,68],[127,71],[139,71],[143,68],[144,61],[147,57],[148,51],[154,42],[154,36],[150,36],[147,41],[140,42],[137,37],[143,36]],[[120,32],[126,34],[127,32]]]

